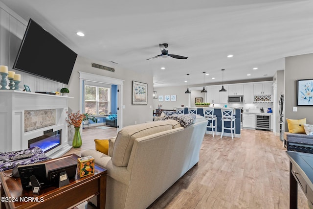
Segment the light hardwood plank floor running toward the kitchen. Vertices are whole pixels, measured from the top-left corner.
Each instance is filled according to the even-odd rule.
[[[79,149],[94,148],[94,137],[116,135],[108,129],[100,135],[94,131],[99,130],[83,132],[83,146]],[[81,150],[70,152],[79,154]],[[198,165],[149,209],[288,209],[289,160],[285,151],[283,142],[272,132],[242,130],[241,138],[233,140],[206,134]],[[309,209],[301,189],[298,208]]]

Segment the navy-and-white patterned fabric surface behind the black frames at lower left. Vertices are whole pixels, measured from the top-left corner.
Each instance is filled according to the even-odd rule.
[[[30,158],[21,160],[10,160],[11,156],[33,153]],[[40,147],[32,147],[25,150],[12,151],[12,152],[0,152],[0,172],[14,168],[17,164],[26,165],[32,163],[39,163],[49,160],[50,158],[45,155],[45,152]]]

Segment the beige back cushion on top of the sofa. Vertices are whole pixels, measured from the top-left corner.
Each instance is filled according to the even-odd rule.
[[[116,166],[127,166],[134,139],[171,129],[173,129],[173,125],[167,121],[148,122],[122,128],[114,142],[112,163]]]

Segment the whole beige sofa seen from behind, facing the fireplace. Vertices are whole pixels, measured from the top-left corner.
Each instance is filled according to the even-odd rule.
[[[109,155],[85,150],[108,170],[107,209],[145,209],[199,162],[207,120],[183,128],[176,120],[124,127],[110,139]],[[92,201],[93,202],[93,201]]]

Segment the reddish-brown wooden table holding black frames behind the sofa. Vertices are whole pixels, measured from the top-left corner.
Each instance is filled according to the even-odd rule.
[[[75,161],[80,156],[72,154],[61,158],[45,161],[48,164]],[[69,185],[60,188],[51,186],[40,190],[39,194],[22,189],[20,178],[9,177],[12,170],[0,173],[1,209],[66,209],[73,208],[88,199],[97,196],[99,209],[106,204],[107,170],[94,166],[94,174],[80,178],[76,172],[75,179]],[[22,201],[21,201],[22,200]]]

